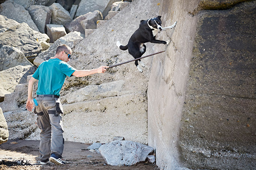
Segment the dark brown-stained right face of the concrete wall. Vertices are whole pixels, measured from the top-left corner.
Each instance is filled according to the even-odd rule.
[[[255,12],[248,1],[199,18],[180,129],[190,168],[256,167]]]

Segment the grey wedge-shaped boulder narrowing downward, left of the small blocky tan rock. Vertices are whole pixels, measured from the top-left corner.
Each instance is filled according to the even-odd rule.
[[[47,6],[31,5],[28,12],[39,31],[46,33],[46,25],[51,23],[52,10]]]

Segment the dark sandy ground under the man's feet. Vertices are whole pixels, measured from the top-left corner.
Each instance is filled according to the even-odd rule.
[[[56,166],[55,164],[40,165],[39,159],[39,141],[18,140],[17,144],[11,144],[15,141],[7,141],[0,145],[0,161],[23,160],[32,165],[27,166],[6,166],[1,164],[0,170],[159,170],[155,164],[138,163],[133,166],[110,166],[107,165],[101,154],[95,151],[82,150],[91,144],[80,142],[65,142],[63,160],[68,164]],[[88,157],[91,155],[92,157]]]

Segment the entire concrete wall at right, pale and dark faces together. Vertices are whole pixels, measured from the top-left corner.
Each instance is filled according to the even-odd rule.
[[[160,169],[255,169],[256,1],[193,13],[206,2],[162,0],[162,25],[178,22],[153,60],[148,144]]]

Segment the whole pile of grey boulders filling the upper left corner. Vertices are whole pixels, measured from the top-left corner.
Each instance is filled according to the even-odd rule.
[[[94,8],[85,7],[86,2],[83,0],[4,1],[0,4],[0,72],[19,65],[39,66],[49,56],[54,56],[55,49],[60,44],[74,48],[74,41],[81,41],[86,29],[97,28],[97,21],[103,20],[103,12],[107,14],[112,10],[118,11],[120,4],[128,3],[119,1],[119,7],[113,9],[113,3],[117,1],[108,0],[102,3],[94,0],[90,2]],[[70,34],[66,36],[68,33]],[[48,50],[49,47],[51,48]],[[36,68],[30,67],[26,67],[26,70],[30,69],[29,73],[32,74]],[[17,75],[25,70],[12,71]],[[0,73],[3,74],[5,73]],[[24,82],[4,79],[0,85],[0,102],[5,94],[14,92],[15,88],[7,88],[6,84],[15,87],[21,83]]]

